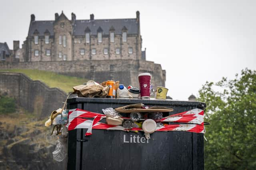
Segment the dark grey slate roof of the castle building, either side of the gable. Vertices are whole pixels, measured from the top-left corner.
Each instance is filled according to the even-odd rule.
[[[50,35],[54,35],[54,21],[33,21],[30,25],[28,36],[33,36],[34,31],[39,32],[39,36],[44,35],[46,29]],[[128,34],[138,34],[138,23],[136,18],[130,19],[110,19],[110,20],[75,20],[73,28],[74,35],[84,35],[88,27],[92,35],[97,35],[99,27],[103,35],[108,35],[111,27],[114,27],[115,34],[122,34],[122,29],[127,29]]]

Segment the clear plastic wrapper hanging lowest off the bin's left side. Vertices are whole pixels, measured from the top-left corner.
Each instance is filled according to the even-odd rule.
[[[67,156],[67,139],[60,138],[57,141],[57,145],[55,147],[55,150],[52,152],[53,159],[61,162],[64,160]]]

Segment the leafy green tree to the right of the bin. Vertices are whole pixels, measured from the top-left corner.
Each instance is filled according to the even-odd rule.
[[[206,82],[205,169],[256,169],[256,71],[245,69],[234,80]]]

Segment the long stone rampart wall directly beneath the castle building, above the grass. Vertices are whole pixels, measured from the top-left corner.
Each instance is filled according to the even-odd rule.
[[[103,82],[105,80],[120,80],[125,86],[138,86],[138,74],[149,72],[152,75],[152,84],[165,86],[165,70],[160,64],[151,61],[139,60],[98,60],[98,61],[48,61],[48,62],[19,62],[0,63],[0,69],[38,69],[48,70]]]

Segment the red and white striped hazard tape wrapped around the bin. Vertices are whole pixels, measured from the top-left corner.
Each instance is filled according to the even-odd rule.
[[[93,120],[85,118],[93,118]],[[120,125],[108,125],[99,122],[103,118],[106,118],[106,115],[82,109],[70,109],[66,127],[68,127],[69,131],[74,129],[88,129],[85,135],[92,135],[92,129],[143,131],[141,128],[126,129]],[[188,131],[193,133],[204,133],[204,111],[202,109],[192,109],[190,111],[170,115],[162,118],[160,121],[194,124],[163,125],[157,127],[156,131]]]

